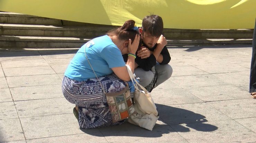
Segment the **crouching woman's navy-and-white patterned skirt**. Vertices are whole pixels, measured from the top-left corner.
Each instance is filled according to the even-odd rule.
[[[126,81],[111,74],[99,78],[103,90],[119,92],[126,88]],[[112,122],[111,113],[108,107],[106,95],[97,78],[85,81],[76,81],[66,76],[62,82],[62,92],[70,103],[76,104],[79,108],[79,126],[85,129],[102,126],[119,125],[125,120]]]

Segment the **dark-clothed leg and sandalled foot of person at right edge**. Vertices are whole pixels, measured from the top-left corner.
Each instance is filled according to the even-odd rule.
[[[256,19],[255,27],[253,31],[253,52],[252,52],[252,61],[250,69],[250,84],[249,92],[254,99],[256,99]]]

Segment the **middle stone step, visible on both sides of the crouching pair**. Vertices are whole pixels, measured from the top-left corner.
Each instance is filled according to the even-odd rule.
[[[28,24],[0,24],[0,35],[53,36],[53,37],[97,37],[118,26],[56,26]],[[171,39],[251,39],[253,30],[181,30],[164,29]]]

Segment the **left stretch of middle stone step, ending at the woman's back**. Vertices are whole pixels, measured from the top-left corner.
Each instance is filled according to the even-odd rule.
[[[0,24],[0,35],[47,36],[47,37],[97,37],[117,26],[55,26],[28,24]]]

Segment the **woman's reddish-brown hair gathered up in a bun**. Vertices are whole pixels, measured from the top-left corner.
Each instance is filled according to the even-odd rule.
[[[124,25],[122,25],[118,29],[110,30],[107,35],[112,36],[113,34],[117,35],[117,37],[120,40],[129,40],[131,39],[131,42],[134,41],[135,35],[139,34],[138,30],[134,29],[134,20],[127,20]]]

